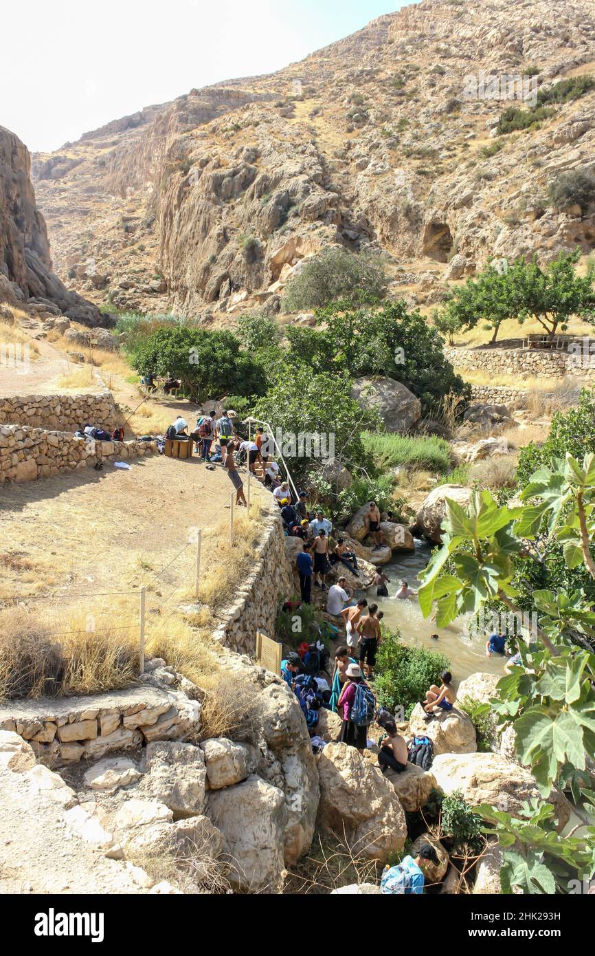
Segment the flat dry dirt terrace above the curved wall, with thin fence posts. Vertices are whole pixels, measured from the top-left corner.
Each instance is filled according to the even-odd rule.
[[[226,473],[207,470],[196,457],[154,455],[131,466],[4,486],[0,600],[127,590],[170,561],[159,578],[163,594],[191,575],[194,548],[174,558],[193,528],[229,514]]]

